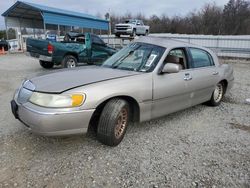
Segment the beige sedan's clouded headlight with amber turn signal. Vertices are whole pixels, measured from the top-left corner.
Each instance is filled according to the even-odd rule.
[[[29,101],[44,107],[67,108],[81,106],[85,98],[85,94],[48,94],[33,92]]]

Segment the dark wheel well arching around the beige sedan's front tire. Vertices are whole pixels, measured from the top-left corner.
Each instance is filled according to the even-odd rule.
[[[133,97],[129,97],[129,96],[116,96],[116,97],[112,97],[112,98],[109,98],[107,100],[105,100],[104,102],[102,102],[101,104],[99,104],[94,112],[94,114],[92,115],[91,119],[90,119],[90,123],[89,123],[89,127],[88,129],[90,128],[93,128],[95,131],[97,130],[97,125],[98,125],[98,122],[99,122],[99,118],[100,118],[100,115],[102,113],[102,110],[104,108],[104,106],[107,104],[108,101],[112,100],[112,99],[115,99],[115,98],[119,98],[119,99],[123,99],[125,101],[128,102],[129,104],[129,108],[131,110],[131,120],[132,122],[139,122],[140,120],[140,107],[139,107],[139,104],[138,102],[133,98]]]

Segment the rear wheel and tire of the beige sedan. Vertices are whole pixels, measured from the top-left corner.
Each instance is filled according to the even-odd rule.
[[[223,99],[224,94],[225,94],[225,86],[222,82],[220,82],[215,86],[211,99],[208,101],[208,105],[219,106]]]

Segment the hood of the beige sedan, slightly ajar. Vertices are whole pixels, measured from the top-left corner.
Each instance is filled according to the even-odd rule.
[[[74,69],[65,69],[37,76],[29,80],[34,84],[35,91],[62,93],[76,87],[137,74],[141,73],[98,66],[86,66]]]

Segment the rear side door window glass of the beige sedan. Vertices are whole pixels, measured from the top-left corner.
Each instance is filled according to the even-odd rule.
[[[197,48],[190,48],[190,53],[193,59],[192,68],[208,67],[213,65],[212,58],[208,52]]]

